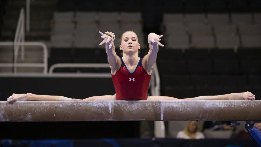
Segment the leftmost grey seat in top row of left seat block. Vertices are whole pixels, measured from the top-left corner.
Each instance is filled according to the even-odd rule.
[[[72,22],[74,19],[74,13],[69,12],[54,12],[53,19],[55,22]]]

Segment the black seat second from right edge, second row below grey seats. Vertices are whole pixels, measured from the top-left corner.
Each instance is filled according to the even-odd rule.
[[[239,61],[237,59],[214,59],[213,72],[218,74],[240,73]]]

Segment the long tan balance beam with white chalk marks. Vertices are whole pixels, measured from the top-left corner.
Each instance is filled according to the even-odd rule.
[[[0,121],[261,120],[261,100],[0,101]]]

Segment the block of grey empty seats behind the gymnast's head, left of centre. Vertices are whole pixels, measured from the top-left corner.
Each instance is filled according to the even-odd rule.
[[[54,12],[51,43],[52,47],[99,48],[99,31],[114,32],[118,39],[126,30],[135,31],[144,42],[140,12]]]

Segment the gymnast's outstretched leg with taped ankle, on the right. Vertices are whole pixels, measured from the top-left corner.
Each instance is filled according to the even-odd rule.
[[[224,95],[198,96],[186,99],[177,99],[168,96],[148,96],[148,100],[255,100],[255,95],[247,91]]]

